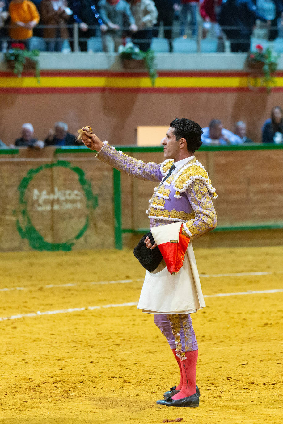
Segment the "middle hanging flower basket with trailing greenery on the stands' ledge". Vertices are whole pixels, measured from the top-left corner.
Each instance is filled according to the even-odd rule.
[[[155,56],[153,50],[147,50],[146,52],[144,52],[132,42],[129,42],[125,46],[120,45],[118,47],[118,53],[120,55],[124,69],[146,69],[149,73],[151,86],[154,87],[155,80],[157,78],[157,72],[154,65]]]

